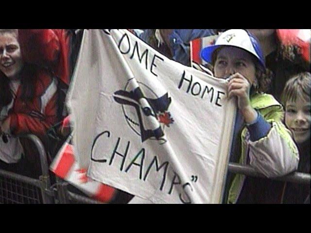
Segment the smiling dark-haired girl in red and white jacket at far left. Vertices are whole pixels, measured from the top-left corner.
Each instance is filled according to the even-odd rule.
[[[19,30],[0,30],[0,160],[7,164],[24,153],[17,136],[32,133],[43,139],[58,120],[59,80],[48,66],[25,59],[30,42],[20,43]]]

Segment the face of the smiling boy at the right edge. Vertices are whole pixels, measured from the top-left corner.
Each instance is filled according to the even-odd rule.
[[[285,106],[285,124],[299,144],[310,140],[310,108],[310,99],[307,101],[300,97],[296,101],[288,100]]]

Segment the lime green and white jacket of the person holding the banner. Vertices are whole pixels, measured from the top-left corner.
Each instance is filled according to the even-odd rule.
[[[298,149],[291,132],[282,123],[284,110],[272,95],[256,93],[250,98],[252,107],[272,125],[267,136],[252,142],[246,127],[241,133],[241,156],[239,163],[249,164],[268,178],[283,176],[297,169]],[[227,203],[236,203],[241,193],[245,176],[236,174],[230,185]]]

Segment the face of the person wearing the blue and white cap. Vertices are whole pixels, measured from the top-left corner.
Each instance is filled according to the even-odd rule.
[[[252,55],[242,49],[226,46],[216,57],[214,74],[217,78],[228,78],[234,73],[240,73],[251,84],[256,80],[256,67]]]

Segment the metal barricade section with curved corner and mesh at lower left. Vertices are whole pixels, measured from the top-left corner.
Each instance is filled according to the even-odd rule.
[[[38,152],[42,175],[39,179],[0,169],[0,203],[53,203],[49,190],[51,181],[46,151],[40,139],[32,134],[22,136],[31,140]]]

